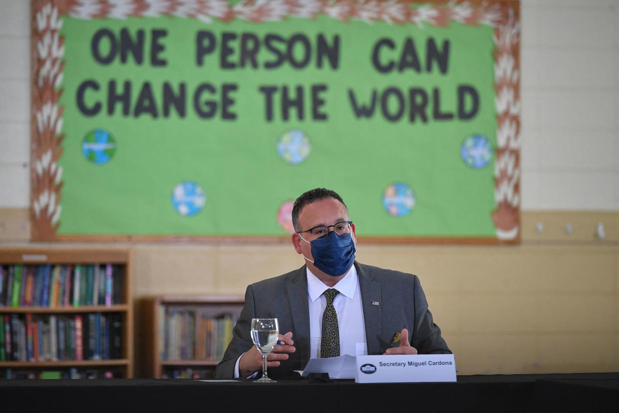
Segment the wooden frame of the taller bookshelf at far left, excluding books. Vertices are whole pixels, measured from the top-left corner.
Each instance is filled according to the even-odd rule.
[[[111,371],[123,378],[132,378],[134,375],[134,315],[131,291],[132,284],[130,276],[131,262],[129,256],[129,251],[124,248],[67,248],[64,246],[50,246],[48,248],[0,248],[0,265],[4,266],[5,269],[7,269],[8,266],[14,266],[15,264],[22,264],[22,268],[24,268],[24,271],[25,266],[31,266],[35,269],[38,269],[38,266],[48,265],[54,267],[76,265],[93,266],[93,264],[98,264],[99,266],[106,266],[106,264],[111,264],[115,267],[115,271],[117,271],[115,272],[115,276],[120,278],[118,282],[120,293],[117,297],[119,302],[113,302],[111,303],[111,305],[73,306],[73,303],[69,303],[68,306],[58,304],[54,306],[54,303],[51,302],[47,306],[12,306],[11,303],[4,303],[8,305],[1,306],[2,302],[0,301],[0,315],[18,315],[23,320],[23,318],[29,315],[41,318],[46,318],[48,316],[54,315],[59,317],[64,316],[67,319],[71,319],[72,317],[80,314],[82,315],[84,320],[86,320],[90,315],[100,314],[101,319],[103,319],[104,317],[108,317],[108,320],[112,320],[112,318],[114,318],[115,320],[119,320],[121,322],[120,358],[116,357],[111,359],[96,359],[97,357],[93,357],[95,358],[95,360],[92,360],[87,359],[87,355],[84,354],[84,360],[0,361],[0,377],[4,378],[8,369],[14,370],[14,372],[37,373],[45,372],[48,370],[59,370],[62,372],[68,372],[68,369],[74,368],[77,369],[79,372],[85,372],[85,370],[89,370],[90,372],[94,373]],[[101,267],[93,268],[95,269],[94,271],[102,271],[100,269]],[[69,277],[69,271],[67,271],[66,274],[66,277]],[[5,274],[3,280],[5,289],[7,288],[6,279],[7,274]],[[102,284],[104,284],[103,281]],[[72,292],[69,292],[67,294],[71,293]],[[0,298],[1,297],[2,296],[0,295]],[[4,334],[4,332],[2,333]],[[82,339],[84,341],[85,349],[85,341],[87,341],[89,337],[86,337],[84,333]],[[101,339],[101,336],[99,336],[98,339]],[[108,336],[108,339],[111,340],[111,336]],[[108,343],[108,346],[111,346],[111,344]],[[72,350],[74,351],[75,349]],[[7,357],[5,356],[5,358]],[[36,358],[38,359],[38,357]]]

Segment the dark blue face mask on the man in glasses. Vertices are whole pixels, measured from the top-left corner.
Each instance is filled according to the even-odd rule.
[[[357,250],[350,233],[337,235],[331,231],[326,237],[313,240],[309,245],[314,261],[305,259],[330,276],[339,277],[345,274],[355,261]]]

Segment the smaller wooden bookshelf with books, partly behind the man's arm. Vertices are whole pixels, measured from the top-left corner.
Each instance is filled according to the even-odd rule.
[[[212,378],[243,308],[240,295],[144,299],[143,365],[152,378]],[[219,328],[219,329],[218,329]]]

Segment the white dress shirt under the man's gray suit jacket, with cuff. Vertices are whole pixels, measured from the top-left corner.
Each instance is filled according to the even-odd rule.
[[[308,279],[308,310],[309,310],[309,358],[320,357],[320,340],[322,331],[322,313],[327,306],[324,290],[329,289],[318,277],[307,268]],[[361,289],[357,269],[353,265],[347,274],[332,288],[340,293],[335,296],[333,306],[337,313],[337,324],[340,329],[340,355],[366,355],[368,343],[365,338],[365,323],[363,322],[363,306],[361,305]],[[281,333],[281,332],[280,332]],[[294,340],[295,337],[293,336]],[[243,353],[245,354],[245,353]],[[236,359],[234,377],[238,378],[238,365],[243,354]],[[303,366],[305,367],[305,366]],[[256,373],[254,373],[256,375]],[[252,375],[252,376],[254,376]],[[251,376],[250,376],[251,377]]]

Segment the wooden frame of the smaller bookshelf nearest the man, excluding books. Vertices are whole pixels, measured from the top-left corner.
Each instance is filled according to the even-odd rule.
[[[152,378],[169,378],[170,372],[175,369],[191,368],[199,375],[199,378],[211,378],[217,363],[219,363],[219,360],[213,357],[200,359],[169,359],[167,357],[164,341],[170,339],[170,331],[168,331],[170,326],[165,318],[169,315],[169,310],[193,311],[195,314],[210,318],[218,318],[222,314],[231,314],[233,317],[231,325],[234,327],[236,318],[243,308],[243,303],[244,298],[237,295],[155,295],[145,298],[142,302],[146,342],[143,360],[145,375]],[[194,320],[197,320],[197,316]],[[197,325],[194,326],[193,331],[196,334],[193,344],[194,347],[197,347],[199,340],[197,336],[204,331]],[[224,344],[227,346],[228,342]],[[196,354],[197,350],[194,352],[194,355]]]

